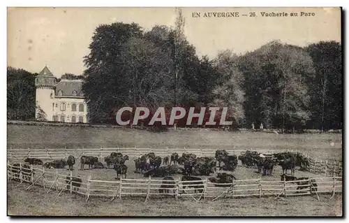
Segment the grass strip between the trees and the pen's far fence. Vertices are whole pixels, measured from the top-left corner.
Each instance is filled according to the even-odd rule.
[[[52,127],[8,124],[8,148],[251,148],[302,150],[319,159],[341,159],[342,134],[267,134]],[[331,143],[333,143],[331,145]]]

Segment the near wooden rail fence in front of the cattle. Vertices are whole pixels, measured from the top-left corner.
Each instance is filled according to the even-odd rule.
[[[18,171],[13,173],[13,171]],[[27,173],[25,173],[27,172]],[[235,199],[239,197],[265,197],[276,196],[277,199],[285,199],[287,196],[305,196],[311,195],[320,200],[321,194],[332,194],[342,192],[341,177],[324,177],[310,178],[315,180],[316,185],[310,184],[309,180],[295,181],[265,181],[259,179],[234,180],[232,183],[213,183],[207,178],[195,181],[162,180],[159,178],[148,179],[124,179],[120,178],[115,181],[93,180],[91,175],[88,178],[81,178],[80,187],[75,187],[75,182],[71,171],[64,175],[57,171],[47,170],[45,168],[24,168],[20,166],[12,166],[8,164],[8,178],[16,180],[18,185],[27,183],[29,189],[32,186],[40,186],[47,190],[47,194],[56,191],[60,196],[62,192],[70,194],[82,194],[86,199],[93,196],[109,197],[111,201],[114,199],[122,199],[130,196],[143,196],[145,202],[153,198],[172,197],[173,199],[189,198],[196,202],[200,199],[211,199],[215,201],[219,198]],[[302,185],[304,188],[297,189],[297,182],[306,182]],[[190,187],[187,187],[188,184]],[[160,189],[164,186],[171,187],[166,193]],[[331,197],[331,198],[332,198]]]

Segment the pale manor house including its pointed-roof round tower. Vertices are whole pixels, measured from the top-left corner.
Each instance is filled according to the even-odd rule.
[[[82,80],[60,80],[45,68],[35,78],[36,118],[38,108],[47,121],[87,122],[87,104],[82,92]]]

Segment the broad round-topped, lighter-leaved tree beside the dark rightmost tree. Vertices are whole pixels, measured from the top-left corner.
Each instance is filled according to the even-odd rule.
[[[304,127],[310,113],[307,80],[313,78],[313,62],[305,50],[272,41],[242,58],[245,104],[249,123],[265,127]]]

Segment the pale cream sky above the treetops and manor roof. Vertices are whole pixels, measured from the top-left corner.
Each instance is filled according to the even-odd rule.
[[[301,17],[302,11],[315,16]],[[207,12],[240,16],[204,17]],[[249,17],[252,12],[256,17]],[[261,12],[288,17],[262,17]],[[292,12],[299,16],[290,17]],[[182,8],[182,13],[188,41],[199,56],[211,59],[220,50],[244,53],[272,40],[300,46],[341,42],[340,8]],[[8,66],[38,73],[47,65],[56,77],[79,75],[98,24],[135,22],[148,31],[156,24],[174,27],[175,19],[174,8],[8,8]]]

